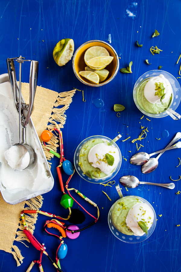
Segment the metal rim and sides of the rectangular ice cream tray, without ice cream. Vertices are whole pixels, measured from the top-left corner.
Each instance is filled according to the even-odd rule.
[[[0,75],[0,83],[4,83],[4,82],[8,82],[8,81],[9,81],[8,73]],[[36,97],[35,97],[35,99],[36,99]],[[5,200],[5,202],[7,202],[9,204],[17,204],[17,203],[20,203],[20,202],[25,201],[27,199],[30,199],[32,197],[39,196],[39,195],[44,194],[44,193],[48,193],[53,188],[53,185],[54,185],[54,179],[53,179],[52,173],[51,173],[51,171],[49,169],[48,162],[46,160],[45,154],[43,152],[42,145],[40,143],[38,134],[36,132],[36,129],[35,129],[34,125],[33,125],[33,121],[32,121],[31,118],[30,118],[30,120],[28,122],[28,125],[30,125],[30,127],[31,127],[31,129],[33,131],[33,134],[36,137],[36,140],[37,140],[37,143],[38,143],[38,148],[40,148],[41,155],[43,156],[43,160],[44,160],[43,163],[45,165],[46,173],[50,178],[50,185],[49,185],[49,188],[41,189],[40,191],[36,191],[36,192],[30,192],[29,194],[27,194],[27,191],[24,190],[24,189],[22,189],[22,191],[18,191],[16,193],[12,194],[12,193],[9,192],[9,190],[5,189],[5,187],[2,185],[2,183],[0,181],[0,191],[1,191],[2,197]]]

